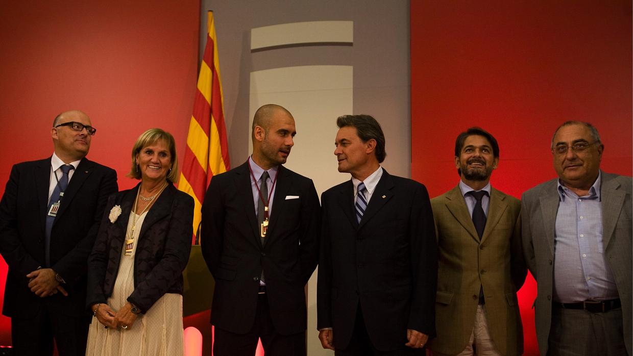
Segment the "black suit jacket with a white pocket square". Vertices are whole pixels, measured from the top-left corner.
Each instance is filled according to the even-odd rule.
[[[279,166],[272,215],[261,245],[248,163],[214,176],[202,207],[202,252],[215,292],[211,324],[232,333],[253,326],[261,270],[275,329],[306,329],[304,286],[318,261],[320,210],[312,180]],[[297,199],[286,199],[289,196]]]

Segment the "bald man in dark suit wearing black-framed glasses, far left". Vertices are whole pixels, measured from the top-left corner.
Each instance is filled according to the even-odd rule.
[[[116,172],[85,158],[90,118],[53,121],[54,153],[11,169],[0,202],[0,253],[9,266],[3,314],[16,355],[84,355],[90,322],[86,266]]]

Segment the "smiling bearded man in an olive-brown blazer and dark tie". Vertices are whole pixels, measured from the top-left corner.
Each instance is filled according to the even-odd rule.
[[[431,200],[439,272],[437,338],[429,348],[434,355],[521,355],[517,291],[527,269],[521,250],[520,202],[489,183],[499,161],[499,145],[490,133],[480,128],[461,133],[454,159],[460,184]],[[472,218],[477,202],[471,194],[476,191],[486,195],[482,231],[477,231]],[[487,328],[479,328],[485,324],[482,319]]]

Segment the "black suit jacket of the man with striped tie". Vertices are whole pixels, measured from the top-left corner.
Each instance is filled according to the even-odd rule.
[[[318,328],[346,348],[356,308],[378,350],[397,350],[406,329],[435,331],[437,243],[426,188],[383,171],[360,221],[351,181],[323,193]]]

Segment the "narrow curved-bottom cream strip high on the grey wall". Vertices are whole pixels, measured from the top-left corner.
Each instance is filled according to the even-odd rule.
[[[353,21],[306,21],[253,28],[251,51],[297,44],[352,44]]]

